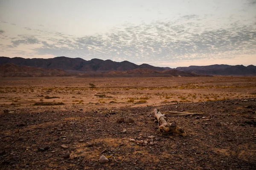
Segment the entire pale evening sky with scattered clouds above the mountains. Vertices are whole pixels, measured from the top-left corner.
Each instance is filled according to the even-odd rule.
[[[256,65],[256,0],[0,0],[0,56]]]

